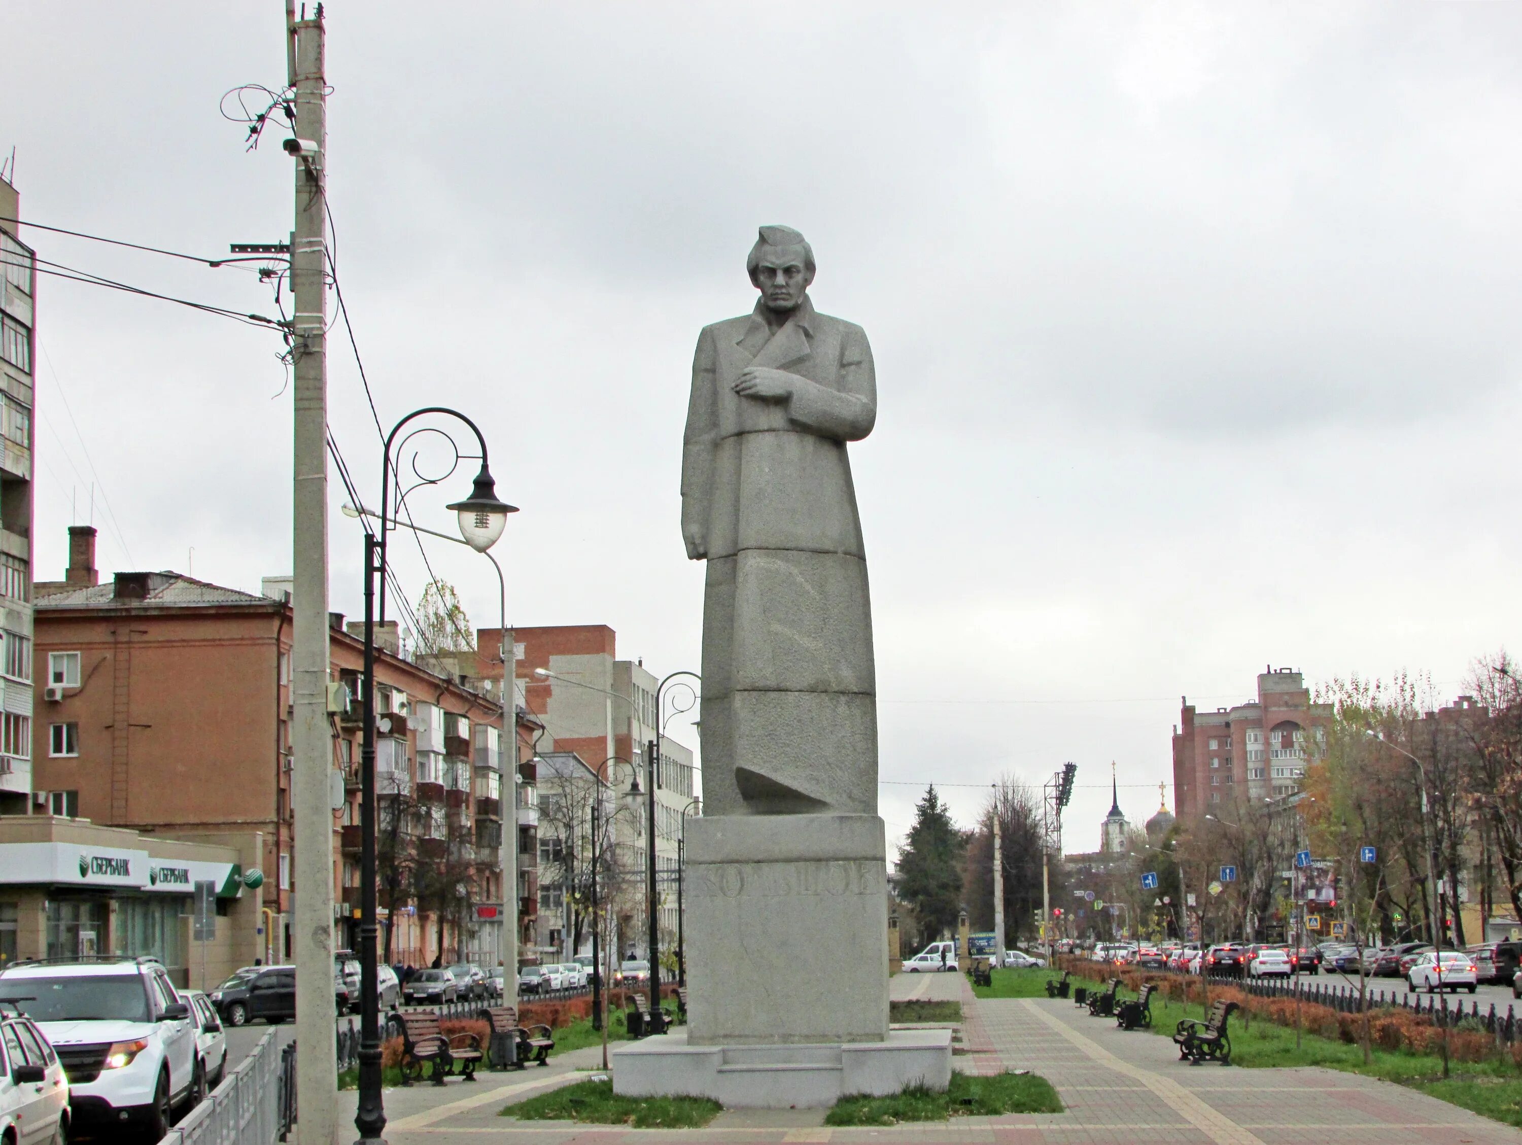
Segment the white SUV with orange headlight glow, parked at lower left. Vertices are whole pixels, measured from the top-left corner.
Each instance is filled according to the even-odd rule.
[[[135,1128],[157,1142],[174,1108],[205,1093],[190,1006],[155,959],[15,962],[0,970],[0,1002],[58,1051],[79,1128]]]

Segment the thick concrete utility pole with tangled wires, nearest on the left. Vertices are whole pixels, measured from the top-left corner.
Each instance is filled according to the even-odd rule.
[[[327,286],[324,172],[323,6],[292,20],[295,38],[295,230],[291,292],[295,300],[295,492],[292,502],[292,699],[291,805],[295,810],[295,1040],[297,1102],[303,1145],[330,1145],[338,1128],[333,1038],[333,769],[327,720]],[[288,56],[289,58],[289,56]]]

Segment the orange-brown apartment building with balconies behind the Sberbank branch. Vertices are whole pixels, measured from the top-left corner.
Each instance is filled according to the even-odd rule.
[[[38,594],[35,671],[49,690],[37,716],[33,801],[97,824],[236,848],[245,869],[266,872],[263,956],[288,958],[289,579],[268,579],[260,594],[177,572],[117,572],[96,583],[93,544],[73,541],[68,576]],[[93,530],[81,541],[93,542]],[[335,941],[353,947],[364,644],[341,615],[330,620],[333,769],[342,792],[333,810]],[[387,903],[388,871],[379,871],[391,958],[495,964],[511,914],[502,885],[501,705],[403,658],[394,624],[382,629],[377,649],[379,790],[397,816],[393,856],[408,875],[405,898]]]

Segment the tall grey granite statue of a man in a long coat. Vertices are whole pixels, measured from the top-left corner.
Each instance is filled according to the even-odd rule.
[[[877,419],[860,326],[808,297],[814,253],[761,227],[755,311],[703,329],[682,534],[708,560],[703,813],[877,815],[866,553],[846,442]]]

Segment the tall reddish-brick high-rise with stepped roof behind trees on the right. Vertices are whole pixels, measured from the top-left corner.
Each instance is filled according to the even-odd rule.
[[[1268,799],[1300,790],[1307,752],[1326,738],[1330,703],[1312,703],[1294,668],[1269,665],[1257,699],[1198,711],[1183,697],[1173,726],[1173,792],[1178,818],[1190,821],[1213,804]]]

